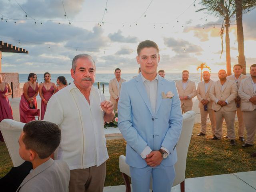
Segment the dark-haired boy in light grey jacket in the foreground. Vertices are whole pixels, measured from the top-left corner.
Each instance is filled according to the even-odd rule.
[[[68,192],[70,170],[66,162],[50,155],[60,144],[61,131],[54,123],[31,121],[19,138],[20,157],[33,165],[17,192]]]

